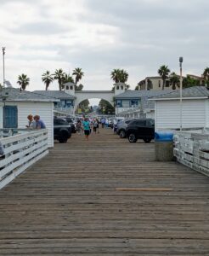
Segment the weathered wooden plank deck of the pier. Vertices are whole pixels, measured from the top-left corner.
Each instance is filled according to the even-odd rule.
[[[209,255],[209,178],[74,135],[0,190],[0,255]]]

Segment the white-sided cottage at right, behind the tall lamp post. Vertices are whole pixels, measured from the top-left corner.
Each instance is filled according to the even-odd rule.
[[[180,92],[172,91],[155,99],[155,131],[179,129]],[[195,86],[183,90],[183,129],[209,127],[209,90],[205,86]]]

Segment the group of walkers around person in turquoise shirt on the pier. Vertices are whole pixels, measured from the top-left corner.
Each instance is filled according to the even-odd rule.
[[[76,124],[76,130],[79,134],[84,133],[88,140],[88,136],[93,130],[93,133],[99,133],[99,119],[88,119],[78,120]]]

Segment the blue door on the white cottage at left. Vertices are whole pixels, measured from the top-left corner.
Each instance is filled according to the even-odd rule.
[[[3,107],[3,128],[18,128],[18,111],[16,106]]]

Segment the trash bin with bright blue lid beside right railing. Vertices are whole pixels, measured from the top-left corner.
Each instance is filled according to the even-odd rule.
[[[155,132],[155,160],[173,160],[173,133],[169,131]]]

